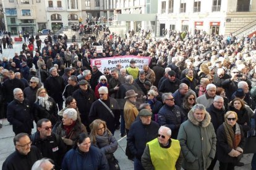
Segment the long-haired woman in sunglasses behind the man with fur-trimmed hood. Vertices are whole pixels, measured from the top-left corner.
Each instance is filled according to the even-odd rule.
[[[183,111],[183,113],[186,115],[189,113],[189,110],[191,110],[192,107],[194,107],[194,105],[197,103],[195,102],[195,100],[197,100],[197,96],[195,96],[194,92],[187,92],[184,99],[183,99],[183,103],[181,105],[181,110]]]

